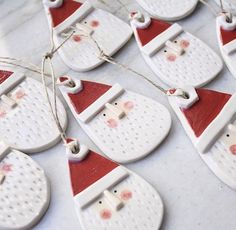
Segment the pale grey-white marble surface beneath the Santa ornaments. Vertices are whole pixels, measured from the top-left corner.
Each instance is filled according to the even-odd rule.
[[[106,9],[127,21],[127,12],[118,2],[105,1],[108,2]],[[134,0],[123,0],[123,2],[130,10],[139,8]],[[214,4],[214,1],[210,3]],[[196,11],[180,21],[180,24],[219,53],[215,18],[205,6],[199,4]],[[0,56],[21,58],[40,64],[41,56],[48,48],[49,30],[41,0],[0,0]],[[143,61],[134,39],[131,39],[115,57],[159,82]],[[57,55],[54,64],[58,75],[69,73],[79,78],[109,84],[119,82],[130,90],[141,92],[165,104],[171,111],[166,98],[155,88],[143,79],[115,66],[104,64],[94,71],[79,74],[69,70]],[[29,73],[29,75],[40,79],[37,74]],[[208,87],[232,93],[236,89],[236,79],[225,67],[220,76]],[[153,184],[162,195],[165,202],[162,229],[236,229],[236,192],[212,174],[193,148],[172,111],[171,114],[173,127],[161,147],[147,158],[127,165]],[[99,151],[80,129],[69,110],[68,116],[70,120],[68,134],[78,137],[91,149]],[[34,229],[80,230],[73,207],[64,147],[58,144],[49,151],[32,157],[44,167],[52,188],[52,200],[48,212]]]

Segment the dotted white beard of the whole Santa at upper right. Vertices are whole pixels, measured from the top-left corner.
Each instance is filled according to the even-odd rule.
[[[210,47],[187,32],[175,40],[189,42],[185,53],[177,56],[175,61],[167,59],[164,52],[166,47],[152,57],[143,54],[145,61],[162,81],[173,87],[181,87],[183,83],[200,87],[216,77],[222,69],[222,61]]]

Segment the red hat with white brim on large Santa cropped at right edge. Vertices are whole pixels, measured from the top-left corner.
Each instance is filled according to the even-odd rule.
[[[198,100],[191,106],[179,107],[196,137],[196,148],[205,152],[235,115],[236,94],[208,89],[197,89],[196,93]]]

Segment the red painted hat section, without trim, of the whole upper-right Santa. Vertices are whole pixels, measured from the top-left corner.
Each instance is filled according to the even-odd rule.
[[[156,19],[151,19],[151,23],[146,28],[136,28],[142,46],[145,46],[155,37],[171,27],[171,24]]]

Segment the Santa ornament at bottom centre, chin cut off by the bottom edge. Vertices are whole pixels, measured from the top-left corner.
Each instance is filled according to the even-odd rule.
[[[157,230],[164,207],[158,192],[144,179],[87,149],[83,160],[70,154],[74,202],[84,230]]]

